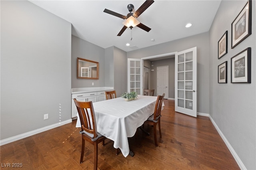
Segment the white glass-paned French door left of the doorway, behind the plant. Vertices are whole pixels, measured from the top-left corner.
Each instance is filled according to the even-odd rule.
[[[142,59],[128,58],[128,92],[136,91],[138,95],[142,95],[142,71]]]

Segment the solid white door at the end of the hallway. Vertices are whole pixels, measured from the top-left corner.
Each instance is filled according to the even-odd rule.
[[[168,70],[168,65],[157,67],[157,95],[162,95],[164,93],[164,99],[169,98]]]

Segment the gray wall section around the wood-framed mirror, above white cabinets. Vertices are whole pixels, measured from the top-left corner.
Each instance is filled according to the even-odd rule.
[[[105,59],[104,48],[93,43],[72,36],[72,55],[71,55],[71,79],[72,88],[78,87],[102,87],[105,84]],[[77,57],[99,62],[99,79],[78,79],[76,77],[76,60]],[[94,85],[92,85],[94,83]]]

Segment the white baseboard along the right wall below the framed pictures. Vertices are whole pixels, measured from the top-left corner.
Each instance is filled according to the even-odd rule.
[[[218,131],[218,133],[220,134],[222,140],[225,142],[226,146],[228,147],[228,149],[230,150],[232,156],[234,157],[234,159],[236,160],[236,163],[238,164],[238,166],[240,167],[241,170],[246,170],[246,167],[244,166],[243,162],[240,160],[240,158],[238,157],[238,155],[236,154],[235,150],[232,148],[232,146],[230,145],[230,143],[228,142],[228,140],[226,139],[226,137],[224,136],[224,134],[221,132],[220,128],[217,126],[217,124],[214,122],[214,120],[212,119],[212,117],[209,115],[210,120],[212,121],[212,124],[214,125],[214,127],[216,128],[216,130]]]

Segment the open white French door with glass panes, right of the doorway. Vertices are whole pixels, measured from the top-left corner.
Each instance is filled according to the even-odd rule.
[[[196,117],[196,47],[175,54],[175,111]]]

